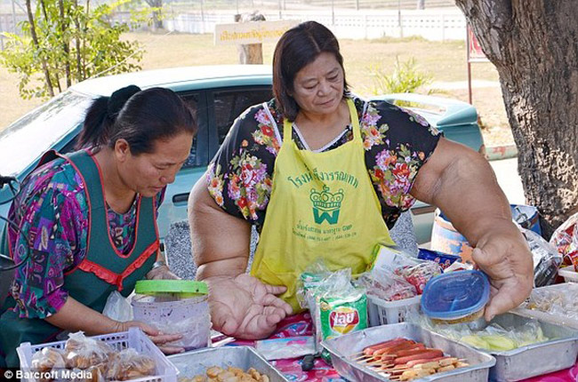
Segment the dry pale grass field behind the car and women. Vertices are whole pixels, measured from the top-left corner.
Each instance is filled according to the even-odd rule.
[[[238,60],[237,47],[214,45],[212,34],[132,33],[127,34],[126,38],[136,39],[145,46],[147,52],[140,63],[143,69],[235,64]],[[399,61],[415,58],[418,68],[431,74],[435,82],[467,80],[464,42],[441,43],[410,37],[377,40],[341,39],[340,44],[348,82],[353,91],[361,95],[368,95],[371,92],[372,66],[379,65],[384,71],[389,72],[394,68],[396,57]],[[271,63],[274,48],[275,44],[263,44],[263,60],[266,64]],[[473,64],[472,76],[476,80],[498,81],[498,74],[491,63]],[[484,131],[486,144],[511,141],[500,88],[474,89],[473,94],[474,106],[478,108],[482,122],[486,126],[494,127]],[[467,101],[468,91],[450,90],[442,96]],[[0,129],[42,102],[39,99],[20,99],[17,76],[0,67]]]

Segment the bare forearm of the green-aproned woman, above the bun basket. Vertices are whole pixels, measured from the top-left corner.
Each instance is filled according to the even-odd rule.
[[[68,297],[60,310],[44,319],[63,330],[83,330],[88,335],[113,333],[122,330],[122,323],[108,318],[76,299]]]

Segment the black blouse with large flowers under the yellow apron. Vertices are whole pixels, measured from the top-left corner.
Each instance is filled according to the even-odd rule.
[[[352,97],[365,147],[365,166],[389,228],[415,202],[409,192],[421,166],[438,145],[437,129],[410,110],[385,101]],[[298,147],[309,149],[293,123]],[[328,151],[353,139],[351,126],[325,147]],[[224,211],[261,230],[274,181],[275,160],[283,142],[283,115],[275,99],[249,107],[240,115],[209,165],[209,193]]]

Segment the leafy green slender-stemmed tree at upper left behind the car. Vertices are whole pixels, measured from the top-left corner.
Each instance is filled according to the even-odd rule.
[[[37,0],[33,7],[26,0],[23,36],[4,33],[9,40],[0,52],[0,63],[20,76],[20,96],[52,97],[92,76],[140,69],[142,47],[121,39],[127,24],[111,21],[120,4],[91,9],[90,0]]]

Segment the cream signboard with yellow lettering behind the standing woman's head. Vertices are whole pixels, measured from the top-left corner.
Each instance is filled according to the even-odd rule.
[[[275,42],[288,29],[300,21],[248,21],[234,24],[217,24],[214,30],[215,45],[261,44]]]

